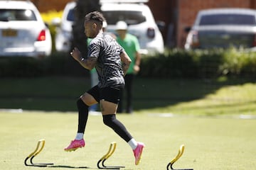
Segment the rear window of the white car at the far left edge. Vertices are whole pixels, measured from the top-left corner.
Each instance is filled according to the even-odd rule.
[[[36,15],[28,9],[0,9],[0,21],[36,21]]]

